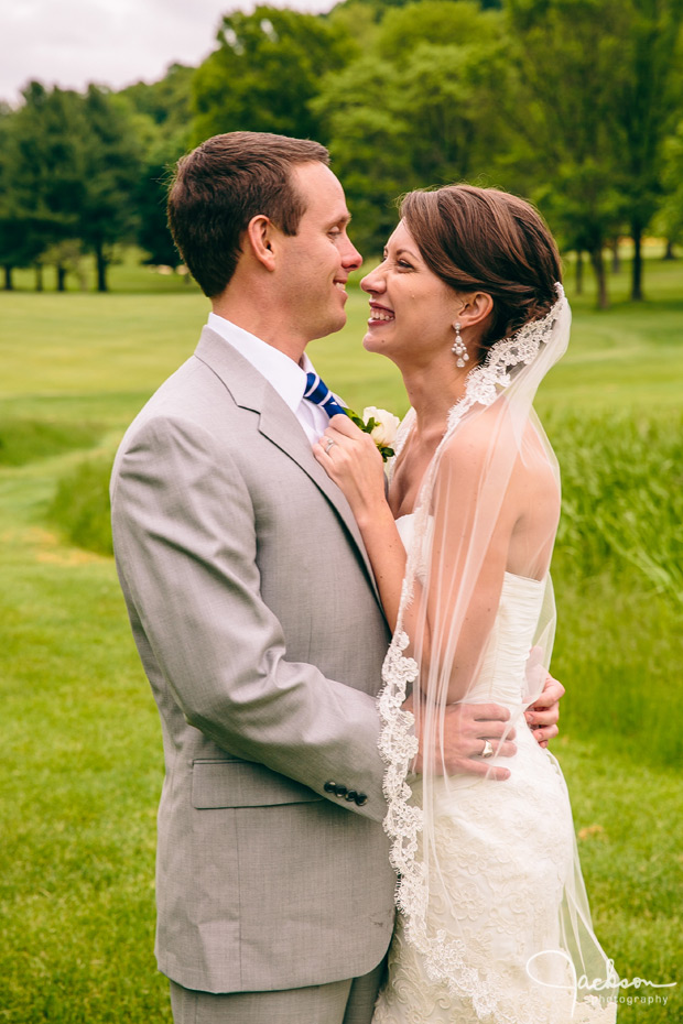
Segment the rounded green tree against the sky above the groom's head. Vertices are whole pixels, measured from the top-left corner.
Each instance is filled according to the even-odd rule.
[[[257,7],[226,15],[218,50],[193,80],[194,140],[226,131],[271,131],[325,141],[308,101],[325,72],[354,53],[348,32],[314,14]]]

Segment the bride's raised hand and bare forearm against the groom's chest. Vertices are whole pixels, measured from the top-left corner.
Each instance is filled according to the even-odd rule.
[[[350,505],[393,632],[405,575],[405,548],[387,502],[382,457],[370,435],[342,415],[333,416],[313,454]]]

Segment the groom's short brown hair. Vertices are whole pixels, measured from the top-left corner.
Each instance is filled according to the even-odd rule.
[[[178,161],[169,227],[205,295],[216,298],[227,287],[252,217],[264,214],[285,235],[296,235],[305,201],[291,170],[312,161],[329,164],[318,142],[250,131],[214,135]]]

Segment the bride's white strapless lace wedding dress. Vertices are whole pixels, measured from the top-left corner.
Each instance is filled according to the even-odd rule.
[[[406,548],[413,520],[397,521]],[[446,957],[452,944],[466,983],[459,988],[457,977],[444,980],[427,971],[399,915],[372,1024],[603,1024],[616,1018],[614,1005],[601,1005],[596,995],[575,1002],[576,974],[562,952],[561,904],[574,871],[572,811],[557,762],[534,740],[522,704],[544,592],[545,581],[506,573],[483,667],[467,698],[510,709],[517,753],[488,762],[503,764],[510,778],[437,777],[429,800],[436,862],[426,865],[426,929],[445,941]],[[422,806],[422,777],[408,782],[411,803]],[[419,840],[418,859],[421,854]],[[549,950],[555,954],[546,956]],[[487,1005],[490,1013],[483,1011]]]

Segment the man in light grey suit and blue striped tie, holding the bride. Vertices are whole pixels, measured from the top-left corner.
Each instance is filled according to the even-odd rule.
[[[111,483],[164,741],[159,966],[176,1024],[368,1024],[393,927],[375,706],[389,633],[311,451],[327,414],[304,399],[306,344],[344,326],[361,259],[315,142],[209,139],[180,162],[169,216],[213,312]],[[561,693],[549,683],[540,739]],[[487,738],[513,753],[496,742],[507,717],[454,708],[449,770],[486,771]]]

